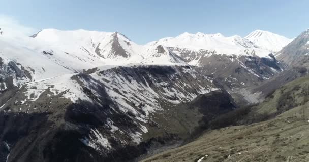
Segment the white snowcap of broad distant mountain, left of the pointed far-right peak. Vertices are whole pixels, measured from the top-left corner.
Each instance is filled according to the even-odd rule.
[[[225,37],[220,33],[183,33],[177,37],[162,38],[159,41],[153,41],[147,45],[164,45],[172,48],[182,48],[190,51],[207,50],[205,55],[227,54],[227,55],[258,55],[267,56],[268,51],[259,48],[248,39],[241,38],[238,35]]]

